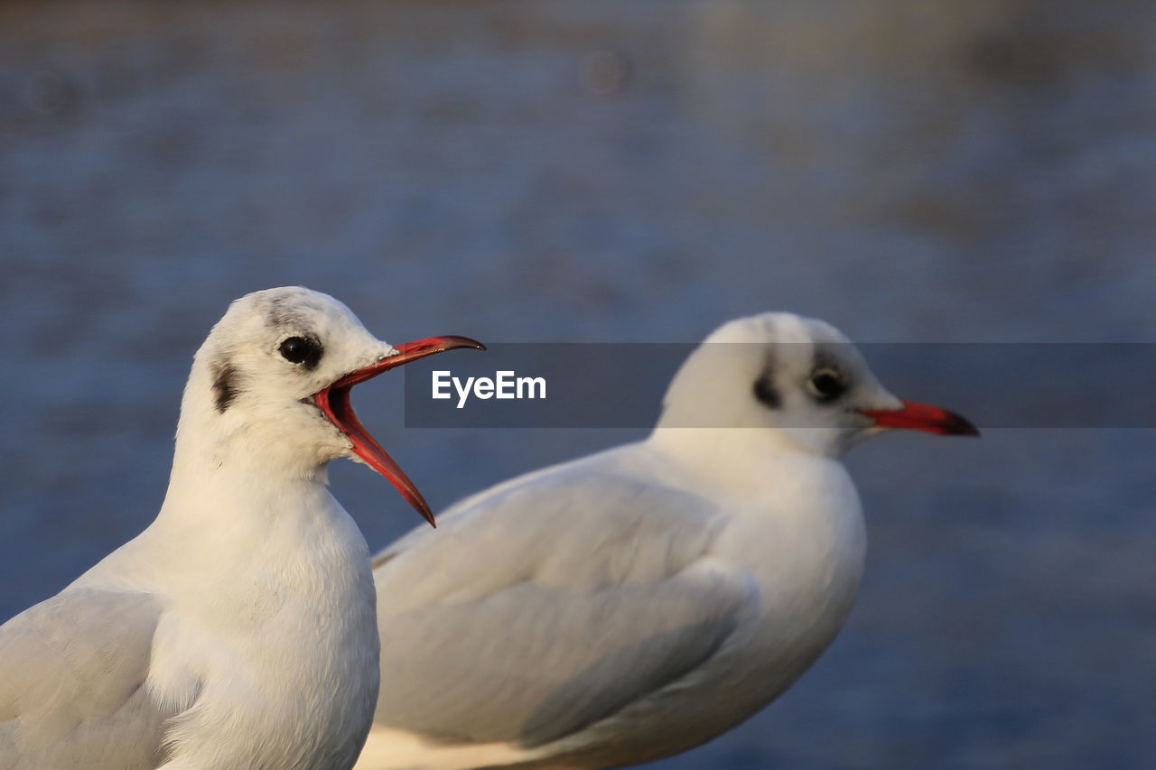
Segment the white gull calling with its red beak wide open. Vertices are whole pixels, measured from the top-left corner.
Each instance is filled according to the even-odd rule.
[[[353,767],[378,630],[369,547],[326,465],[368,464],[432,521],[349,391],[459,347],[481,346],[386,345],[303,288],[234,302],[193,358],[156,519],[0,627],[0,767]]]

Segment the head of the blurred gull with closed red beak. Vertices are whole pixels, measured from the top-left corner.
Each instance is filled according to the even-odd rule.
[[[716,330],[675,375],[659,428],[764,428],[795,449],[840,457],[889,429],[978,435],[964,417],[902,400],[837,328],[763,313]]]

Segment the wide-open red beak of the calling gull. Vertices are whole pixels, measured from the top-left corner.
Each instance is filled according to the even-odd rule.
[[[406,342],[405,345],[395,346],[397,353],[392,356],[386,356],[376,364],[346,375],[328,387],[318,391],[313,397],[321,414],[328,417],[329,422],[336,425],[338,430],[348,436],[349,440],[354,443],[354,453],[365,460],[371,468],[388,479],[390,483],[401,493],[401,496],[409,501],[409,504],[416,508],[417,512],[425,517],[425,520],[433,526],[437,526],[433,521],[433,512],[430,511],[430,506],[425,502],[425,498],[422,497],[422,494],[417,491],[417,487],[402,473],[398,464],[385,453],[381,445],[373,440],[373,437],[369,435],[365,427],[357,420],[357,415],[354,414],[354,408],[349,403],[349,391],[357,383],[364,383],[366,379],[377,377],[384,371],[409,363],[410,361],[424,358],[435,353],[452,350],[454,348],[484,350],[486,346],[466,336],[431,336],[425,340]]]

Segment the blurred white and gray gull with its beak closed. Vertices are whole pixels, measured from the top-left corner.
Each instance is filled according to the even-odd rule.
[[[978,435],[889,393],[823,321],[724,325],[645,440],[499,483],[375,557],[388,687],[356,768],[617,768],[751,717],[851,610],[866,535],[839,458],[888,429]]]

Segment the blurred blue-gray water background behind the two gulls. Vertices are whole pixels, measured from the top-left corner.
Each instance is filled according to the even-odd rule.
[[[391,341],[694,341],[769,309],[1156,341],[1154,39],[1147,0],[0,3],[0,617],[148,524],[191,356],[259,288]],[[356,401],[435,510],[645,432],[406,429],[399,379]],[[1150,767],[1154,438],[857,449],[846,629],[655,767]],[[417,524],[332,479],[371,546]]]

